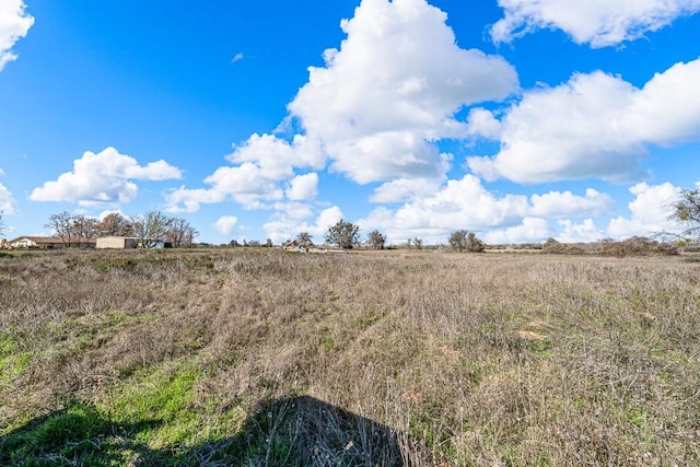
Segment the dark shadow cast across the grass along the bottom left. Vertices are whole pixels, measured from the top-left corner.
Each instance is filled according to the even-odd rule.
[[[308,396],[261,404],[234,436],[153,450],[159,420],[114,422],[75,404],[0,437],[2,466],[405,466],[420,443]]]

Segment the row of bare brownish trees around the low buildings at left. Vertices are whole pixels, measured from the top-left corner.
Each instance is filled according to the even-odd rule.
[[[44,226],[51,229],[65,245],[80,245],[88,240],[104,236],[129,236],[137,238],[143,248],[165,243],[177,248],[192,246],[199,235],[186,219],[171,218],[161,211],[148,211],[132,217],[113,212],[102,220],[62,211],[51,214]]]

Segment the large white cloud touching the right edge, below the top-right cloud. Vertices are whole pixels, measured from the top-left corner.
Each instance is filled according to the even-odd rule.
[[[635,180],[650,144],[700,138],[700,59],[676,63],[642,89],[596,71],[528,91],[502,120],[501,149],[469,157],[487,179]]]

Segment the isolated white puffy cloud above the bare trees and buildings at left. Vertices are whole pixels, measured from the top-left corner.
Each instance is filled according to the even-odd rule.
[[[69,201],[80,206],[100,206],[132,201],[138,194],[133,180],[165,180],[180,178],[182,173],[165,161],[139,165],[115,148],[102,152],[86,151],[73,161],[73,171],[45,182],[30,195],[33,201]]]

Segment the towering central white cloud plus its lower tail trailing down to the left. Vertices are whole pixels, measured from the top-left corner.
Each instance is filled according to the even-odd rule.
[[[341,22],[347,37],[340,47],[324,52],[324,67],[308,69],[308,82],[289,104],[280,129],[298,131],[291,138],[253,135],[228,157],[232,166],[205,179],[208,188],[172,192],[170,209],[194,212],[201,202],[228,199],[255,209],[285,197],[310,199],[313,179],[298,177],[326,168],[359,184],[443,180],[448,157],[435,142],[469,131],[455,115],[518,90],[510,63],[459,48],[446,19],[424,0],[363,0]],[[396,188],[377,197],[411,196],[410,186]]]

